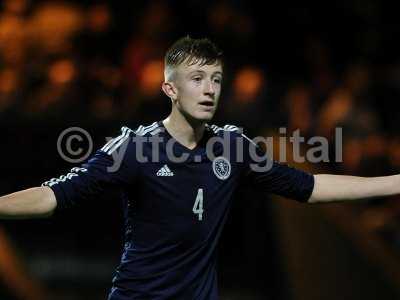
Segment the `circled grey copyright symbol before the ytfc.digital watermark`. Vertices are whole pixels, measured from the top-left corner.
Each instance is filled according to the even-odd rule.
[[[69,163],[81,163],[93,150],[93,140],[89,132],[80,127],[65,129],[57,139],[58,154]]]

